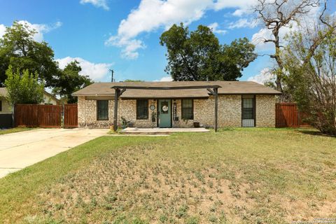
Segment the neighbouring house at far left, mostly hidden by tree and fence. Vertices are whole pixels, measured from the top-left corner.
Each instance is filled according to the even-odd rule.
[[[8,128],[13,126],[13,118],[12,118],[13,109],[8,103],[6,96],[7,96],[6,87],[0,87],[0,128]],[[44,91],[43,102],[41,104],[58,105],[60,104],[60,101],[52,94]]]

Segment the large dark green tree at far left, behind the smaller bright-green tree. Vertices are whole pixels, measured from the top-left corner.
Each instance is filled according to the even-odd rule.
[[[38,74],[39,80],[45,80],[47,87],[53,85],[53,78],[58,72],[54,52],[48,43],[34,41],[34,34],[34,29],[17,21],[13,22],[12,27],[6,28],[5,34],[0,38],[0,86],[7,78],[6,69],[9,65],[15,70],[29,69]]]

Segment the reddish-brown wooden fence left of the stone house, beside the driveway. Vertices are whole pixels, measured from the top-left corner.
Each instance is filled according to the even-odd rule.
[[[18,104],[14,111],[15,127],[77,127],[77,104]]]

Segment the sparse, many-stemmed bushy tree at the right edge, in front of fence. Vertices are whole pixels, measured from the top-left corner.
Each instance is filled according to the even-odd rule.
[[[325,12],[325,8],[323,13]],[[306,121],[325,134],[336,135],[336,20],[320,16],[288,37],[281,55],[288,91],[307,116]]]

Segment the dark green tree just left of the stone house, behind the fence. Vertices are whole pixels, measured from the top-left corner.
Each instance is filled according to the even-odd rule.
[[[80,71],[82,71],[82,68],[79,66],[78,61],[74,60],[67,64],[59,72],[59,77],[55,80],[57,87],[52,90],[52,93],[59,94],[68,104],[76,103],[77,97],[73,97],[71,94],[93,83],[89,76],[80,75]]]

